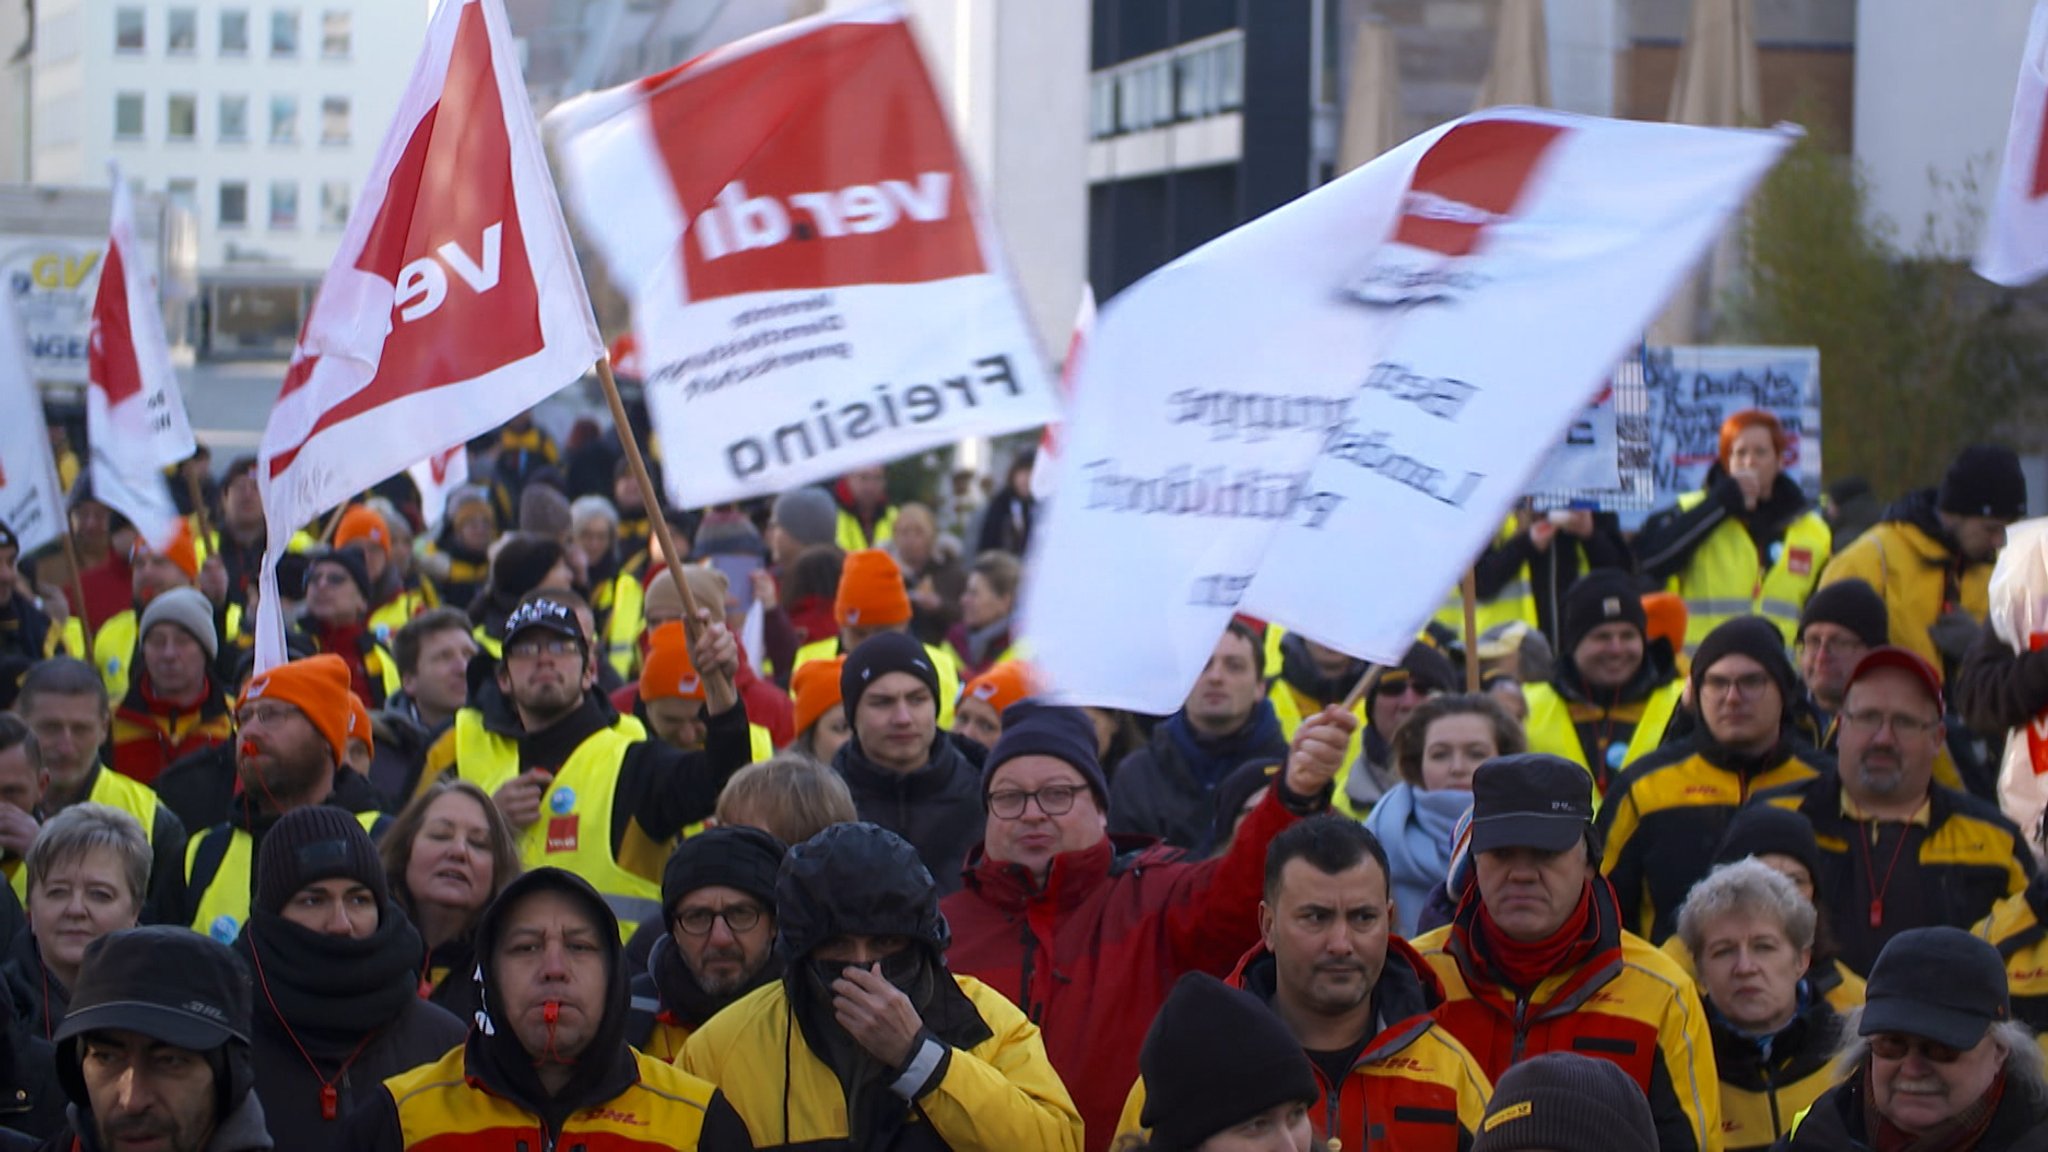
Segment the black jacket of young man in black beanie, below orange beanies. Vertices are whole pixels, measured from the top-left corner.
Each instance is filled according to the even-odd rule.
[[[924,767],[901,775],[868,760],[854,736],[840,746],[831,767],[854,795],[854,812],[909,840],[946,896],[961,888],[967,851],[981,840],[981,765],[987,758],[981,744],[940,732]]]

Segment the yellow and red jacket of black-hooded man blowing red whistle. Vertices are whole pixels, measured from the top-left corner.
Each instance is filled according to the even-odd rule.
[[[600,1107],[578,1109],[559,1134],[465,1074],[465,1047],[385,1080],[406,1152],[694,1150],[715,1088],[696,1076],[635,1056],[639,1078]],[[375,1105],[373,1105],[375,1107]],[[354,1129],[358,1132],[360,1129]]]

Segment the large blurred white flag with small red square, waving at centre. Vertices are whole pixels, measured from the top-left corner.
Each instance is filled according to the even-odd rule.
[[[1057,693],[1174,711],[1235,611],[1397,662],[1786,143],[1489,109],[1110,301],[1024,584]]]

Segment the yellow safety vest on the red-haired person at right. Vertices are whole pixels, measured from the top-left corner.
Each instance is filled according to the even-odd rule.
[[[1706,496],[1706,492],[1681,494],[1679,512],[1698,508]],[[1827,521],[1808,510],[1786,529],[1778,558],[1761,566],[1757,545],[1741,523],[1729,519],[1714,525],[1686,568],[1669,582],[1669,588],[1686,601],[1686,656],[1700,648],[1706,633],[1745,615],[1761,615],[1776,623],[1790,646],[1798,635],[1798,613],[1806,607],[1806,596],[1821,586],[1821,570],[1833,556],[1833,539]]]

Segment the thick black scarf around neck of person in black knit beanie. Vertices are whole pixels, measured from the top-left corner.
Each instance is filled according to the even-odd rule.
[[[387,900],[365,939],[315,933],[254,908],[236,951],[256,978],[260,1023],[283,1027],[315,1058],[346,1060],[420,996],[416,965],[426,945]]]

